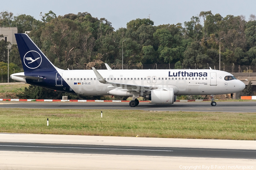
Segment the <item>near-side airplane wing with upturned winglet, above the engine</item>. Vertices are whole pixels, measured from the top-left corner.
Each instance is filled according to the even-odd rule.
[[[103,83],[103,84],[109,84],[110,88],[121,88],[121,89],[125,89],[125,90],[131,90],[131,91],[136,91],[136,92],[140,92],[140,91],[149,91],[149,90],[154,90],[157,89],[158,87],[151,87],[151,86],[140,86],[140,85],[135,85],[135,84],[121,84],[121,83],[112,83],[112,82],[108,82],[106,81],[102,75],[100,75],[100,73],[94,68],[92,67],[97,79],[99,82]]]

